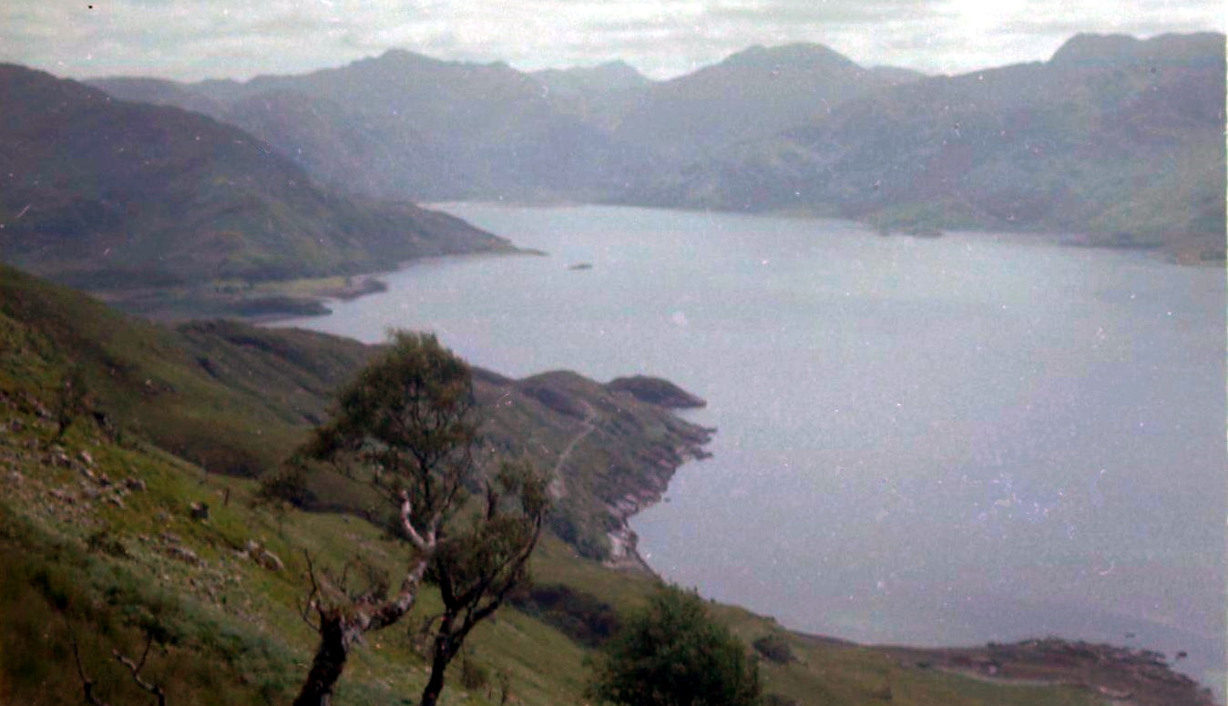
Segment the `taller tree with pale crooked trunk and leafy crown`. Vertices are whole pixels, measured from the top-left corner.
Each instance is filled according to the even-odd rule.
[[[463,502],[476,444],[469,367],[431,335],[394,333],[389,350],[341,390],[333,419],[318,427],[305,458],[362,476],[389,502],[395,533],[409,545],[400,584],[348,589],[308,561],[319,645],[296,706],[327,706],[350,651],[367,632],[399,621],[440,545],[445,522]],[[361,557],[356,557],[361,561]],[[348,562],[349,564],[349,562]],[[346,570],[348,571],[348,570]]]

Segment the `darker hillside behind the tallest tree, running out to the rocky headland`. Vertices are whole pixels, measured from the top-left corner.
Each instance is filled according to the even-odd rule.
[[[237,322],[154,325],[4,265],[0,313],[37,323],[48,345],[65,351],[61,362],[118,432],[249,478],[275,470],[325,417],[333,390],[377,350]],[[624,519],[658,497],[710,436],[664,406],[575,373],[515,381],[479,370],[475,393],[485,443],[558,475],[554,527],[598,559],[628,556]],[[361,510],[368,500],[332,478],[314,479],[311,490],[317,508]]]

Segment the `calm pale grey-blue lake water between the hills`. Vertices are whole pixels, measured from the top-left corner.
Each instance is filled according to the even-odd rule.
[[[1222,270],[837,221],[445,208],[550,255],[418,263],[292,323],[431,329],[499,372],[706,398],[690,416],[720,427],[715,457],[634,521],[666,577],[863,642],[1051,634],[1222,674]]]

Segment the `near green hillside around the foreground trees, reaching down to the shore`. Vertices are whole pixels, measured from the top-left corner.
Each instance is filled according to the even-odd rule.
[[[303,553],[339,568],[362,546],[392,570],[404,548],[352,513],[260,505],[258,484],[235,474],[273,468],[324,414],[327,390],[368,355],[360,344],[303,332],[158,328],[0,269],[0,704],[80,701],[74,641],[102,697],[141,702],[147,695],[111,651],[136,657],[146,634],[155,647],[144,675],[176,706],[287,702],[314,642],[298,613]],[[86,395],[68,405],[60,390],[74,371]],[[476,379],[491,449],[544,449],[534,460],[562,473],[565,507],[569,497],[651,494],[646,479],[668,478],[669,463],[695,453],[704,433],[571,373],[510,381],[478,371]],[[75,414],[56,440],[61,409]],[[581,451],[589,442],[596,449]],[[575,453],[564,458],[569,447]],[[199,458],[231,474],[208,473]],[[655,470],[645,470],[648,460]],[[192,512],[200,503],[206,518]],[[596,627],[641,605],[656,584],[647,572],[581,557],[555,535],[533,572],[537,588],[517,598],[519,608],[475,631],[470,668],[457,662],[443,702],[500,704],[503,684],[508,702],[582,702]],[[435,609],[427,592],[408,625],[368,636],[336,702],[413,704],[426,679],[414,627]],[[791,659],[763,662],[766,691],[782,704],[1099,702],[1086,688],[995,684],[925,668],[912,653],[790,634],[736,607],[712,610],[748,643],[776,635],[787,645]],[[1140,704],[1200,702],[1189,685],[1162,694],[1156,680],[1115,679]]]

